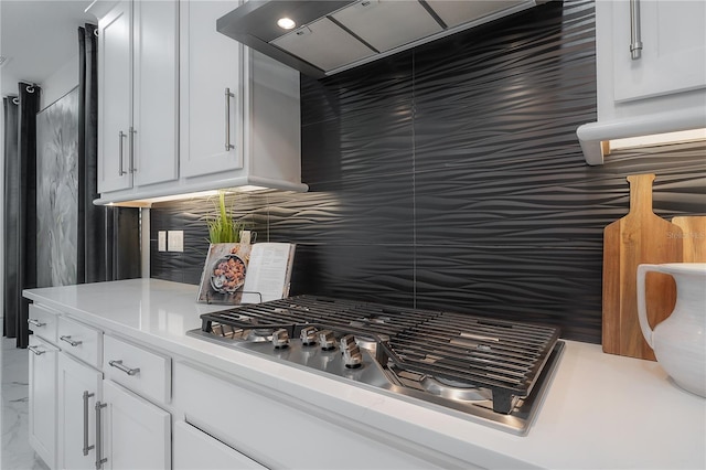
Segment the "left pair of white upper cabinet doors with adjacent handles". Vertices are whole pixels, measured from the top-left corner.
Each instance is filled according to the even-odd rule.
[[[179,177],[178,18],[175,0],[125,0],[98,22],[100,193]]]

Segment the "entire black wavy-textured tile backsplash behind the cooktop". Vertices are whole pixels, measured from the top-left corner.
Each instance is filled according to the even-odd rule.
[[[588,167],[591,1],[549,2],[314,81],[302,77],[304,194],[229,196],[259,241],[298,244],[292,293],[446,309],[600,342],[602,232],[625,177],[656,173],[656,214],[706,214],[706,146]],[[151,210],[152,277],[197,284],[212,202]],[[158,253],[157,229],[186,252]]]

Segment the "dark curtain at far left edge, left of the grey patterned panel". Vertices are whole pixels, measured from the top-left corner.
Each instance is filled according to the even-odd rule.
[[[6,98],[6,290],[4,332],[26,348],[29,301],[23,289],[36,287],[36,113],[41,88],[20,82],[18,86],[17,153],[10,150],[12,129],[7,129],[11,106]],[[11,102],[12,98],[9,98]],[[9,113],[10,111],[10,113]],[[9,132],[8,132],[9,130]]]

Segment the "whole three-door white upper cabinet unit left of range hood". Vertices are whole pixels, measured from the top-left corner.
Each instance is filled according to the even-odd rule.
[[[124,0],[99,18],[98,204],[301,183],[299,72],[218,33],[237,1]]]

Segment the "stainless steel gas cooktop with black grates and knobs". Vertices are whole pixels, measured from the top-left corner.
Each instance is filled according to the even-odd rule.
[[[299,296],[188,334],[525,435],[561,355],[553,327]]]

